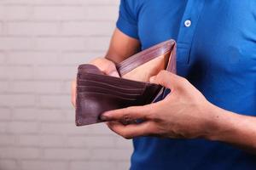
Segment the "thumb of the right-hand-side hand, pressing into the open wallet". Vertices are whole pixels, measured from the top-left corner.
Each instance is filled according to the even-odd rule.
[[[155,84],[160,84],[165,88],[170,88],[172,91],[176,88],[182,81],[183,77],[178,77],[169,71],[160,71],[160,73],[154,77],[150,77],[150,82]]]

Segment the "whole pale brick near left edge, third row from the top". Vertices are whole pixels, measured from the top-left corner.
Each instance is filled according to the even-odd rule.
[[[59,32],[56,22],[8,22],[7,34],[11,36],[55,36]]]

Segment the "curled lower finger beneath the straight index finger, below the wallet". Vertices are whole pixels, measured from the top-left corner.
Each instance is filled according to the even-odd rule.
[[[118,133],[125,139],[132,139],[138,136],[148,136],[154,133],[153,122],[143,122],[140,124],[130,124],[126,126],[119,122],[108,122],[107,125],[114,133]]]

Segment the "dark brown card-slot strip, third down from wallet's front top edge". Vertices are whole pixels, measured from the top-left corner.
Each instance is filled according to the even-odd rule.
[[[93,80],[81,80],[78,79],[78,86],[92,86],[98,88],[109,88],[112,90],[116,90],[125,94],[142,94],[145,88],[123,88],[119,86],[114,86],[112,84],[108,84],[105,82],[96,82]]]

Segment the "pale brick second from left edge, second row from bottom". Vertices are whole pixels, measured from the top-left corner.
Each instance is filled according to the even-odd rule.
[[[50,160],[86,160],[90,150],[84,149],[45,149],[44,159]]]

